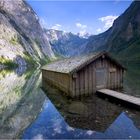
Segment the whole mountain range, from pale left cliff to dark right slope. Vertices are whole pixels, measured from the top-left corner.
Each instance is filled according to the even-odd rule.
[[[122,63],[140,61],[140,2],[134,1],[106,32],[88,38],[43,29],[24,0],[0,1],[0,67],[43,63],[56,55],[70,57],[106,50]]]

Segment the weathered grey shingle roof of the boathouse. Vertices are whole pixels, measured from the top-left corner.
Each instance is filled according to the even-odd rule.
[[[96,60],[98,57],[102,55],[108,55],[105,52],[98,52],[98,53],[92,53],[88,55],[83,56],[77,56],[77,57],[71,57],[63,60],[58,60],[55,62],[52,62],[50,64],[47,64],[42,67],[43,70],[48,71],[54,71],[54,72],[60,72],[60,73],[73,73],[85,65],[88,65],[92,61]],[[110,56],[108,56],[110,57]],[[112,58],[111,58],[112,59]],[[112,59],[117,65],[123,68],[116,60]]]

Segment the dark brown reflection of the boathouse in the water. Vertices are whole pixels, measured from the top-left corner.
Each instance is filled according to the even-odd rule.
[[[46,94],[69,126],[104,132],[121,114],[122,108],[95,95],[71,99],[46,83]],[[59,100],[58,100],[59,99]]]

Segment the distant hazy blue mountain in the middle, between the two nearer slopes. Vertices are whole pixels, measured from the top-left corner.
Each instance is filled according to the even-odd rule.
[[[44,30],[56,55],[64,57],[79,55],[86,47],[86,37],[54,29]]]

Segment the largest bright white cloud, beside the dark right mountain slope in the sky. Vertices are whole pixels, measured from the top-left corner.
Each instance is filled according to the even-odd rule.
[[[104,23],[104,29],[108,29],[112,26],[114,20],[117,17],[118,16],[109,15],[109,16],[101,17],[101,18],[99,18],[99,20]]]

